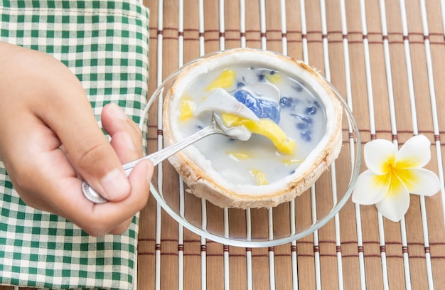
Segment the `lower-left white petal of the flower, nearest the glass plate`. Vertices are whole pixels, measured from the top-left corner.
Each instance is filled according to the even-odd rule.
[[[388,176],[377,176],[367,170],[358,176],[353,191],[353,202],[360,205],[373,205],[385,197],[390,180]]]

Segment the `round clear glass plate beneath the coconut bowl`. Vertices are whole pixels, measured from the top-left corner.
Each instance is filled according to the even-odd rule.
[[[186,66],[167,77],[149,99],[147,108],[150,114],[157,114],[159,132],[162,129],[163,96]],[[163,161],[155,169],[151,194],[179,224],[224,245],[271,247],[310,235],[343,208],[360,171],[361,146],[357,124],[348,104],[336,88],[331,87],[343,106],[343,146],[338,159],[309,190],[294,200],[269,209],[219,208],[187,193],[186,184],[168,161]],[[161,136],[159,144],[162,144]]]

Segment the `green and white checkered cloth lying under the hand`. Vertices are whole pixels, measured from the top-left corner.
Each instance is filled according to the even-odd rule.
[[[149,11],[139,1],[0,0],[0,41],[65,63],[85,87],[97,122],[109,102],[139,122],[149,45]],[[132,289],[138,218],[123,235],[90,237],[26,206],[0,161],[0,284]]]

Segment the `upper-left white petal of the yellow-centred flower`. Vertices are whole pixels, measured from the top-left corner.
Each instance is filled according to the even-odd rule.
[[[390,171],[390,165],[394,163],[396,154],[397,146],[385,139],[372,140],[365,144],[363,150],[366,166],[378,175]]]

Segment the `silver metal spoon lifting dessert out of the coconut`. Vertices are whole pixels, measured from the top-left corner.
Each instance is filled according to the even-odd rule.
[[[218,115],[215,112],[213,112],[212,122],[210,123],[210,125],[208,125],[208,127],[204,127],[200,131],[197,131],[195,134],[188,136],[186,139],[183,139],[182,141],[179,141],[178,143],[168,146],[162,150],[156,151],[153,154],[144,156],[141,159],[137,159],[129,163],[125,163],[123,165],[124,171],[127,174],[127,176],[129,176],[129,173],[132,172],[134,166],[136,166],[136,164],[139,163],[139,161],[144,159],[150,159],[151,162],[153,162],[154,166],[156,166],[163,160],[167,159],[176,152],[180,151],[181,149],[184,149],[187,146],[195,143],[196,141],[203,139],[205,136],[209,136],[212,134],[223,134],[225,136],[237,138],[242,141],[247,141],[248,139],[250,139],[250,136],[252,135],[252,133],[244,126],[225,127],[220,117],[218,117]],[[87,183],[87,181],[84,181],[82,183],[82,192],[85,195],[85,197],[92,203],[106,203],[108,201],[106,198],[102,197],[102,195],[97,193],[97,191],[94,188],[92,188],[90,184]]]

